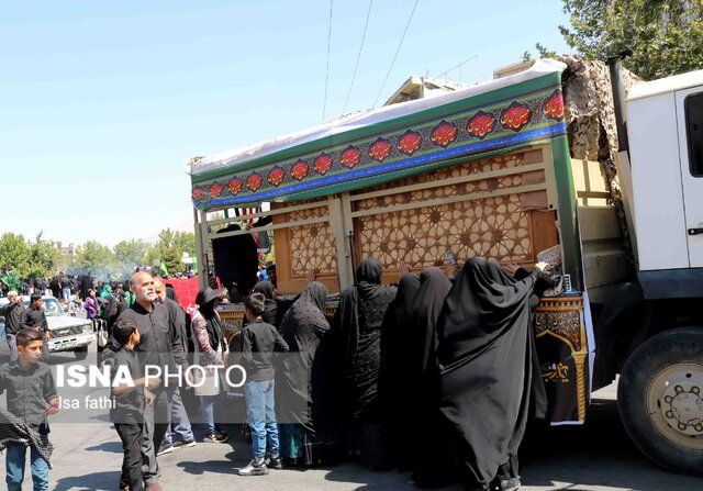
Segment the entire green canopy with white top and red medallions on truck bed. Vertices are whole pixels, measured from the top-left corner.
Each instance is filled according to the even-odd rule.
[[[193,204],[317,198],[562,137],[563,68],[539,60],[517,75],[196,159]]]

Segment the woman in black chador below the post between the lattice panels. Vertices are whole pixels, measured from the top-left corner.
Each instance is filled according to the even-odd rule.
[[[381,364],[381,324],[395,298],[395,287],[381,286],[378,259],[364,259],[357,283],[342,292],[334,327],[339,339],[348,422],[348,451],[377,466],[381,459],[378,375]]]

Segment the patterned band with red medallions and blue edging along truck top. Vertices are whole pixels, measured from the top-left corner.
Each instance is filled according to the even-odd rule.
[[[323,194],[330,187],[357,189],[369,178],[375,183],[388,181],[401,171],[421,172],[442,160],[480,158],[563,136],[563,116],[561,89],[549,85],[517,98],[409,122],[395,131],[199,181],[192,188],[193,204],[209,210],[299,193]]]

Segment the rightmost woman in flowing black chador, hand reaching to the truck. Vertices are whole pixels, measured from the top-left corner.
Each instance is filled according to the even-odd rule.
[[[531,402],[544,417],[531,297],[546,266],[538,263],[518,281],[495,260],[471,258],[437,322],[439,408],[468,490],[517,489],[517,448]]]

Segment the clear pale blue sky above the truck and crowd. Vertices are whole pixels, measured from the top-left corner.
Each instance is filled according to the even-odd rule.
[[[332,0],[330,31],[330,0],[7,3],[0,234],[192,231],[192,156],[381,105],[411,75],[476,83],[537,42],[569,52],[561,0],[417,0],[408,24],[414,5]]]

